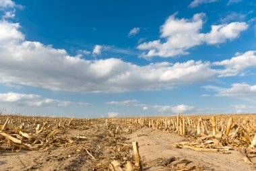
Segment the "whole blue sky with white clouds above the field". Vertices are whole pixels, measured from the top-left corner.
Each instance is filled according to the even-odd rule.
[[[254,0],[0,0],[0,111],[256,113]]]

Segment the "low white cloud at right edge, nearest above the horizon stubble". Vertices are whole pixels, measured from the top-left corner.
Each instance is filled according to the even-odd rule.
[[[217,96],[240,98],[243,100],[256,100],[256,85],[251,86],[247,83],[233,83],[231,88],[221,90]]]

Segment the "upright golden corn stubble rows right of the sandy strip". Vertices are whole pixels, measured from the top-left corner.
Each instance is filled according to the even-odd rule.
[[[253,114],[184,116],[178,113],[176,117],[135,118],[130,122],[189,137],[189,141],[170,144],[170,147],[222,153],[236,150],[247,164],[253,164],[250,158],[256,156],[256,116]]]

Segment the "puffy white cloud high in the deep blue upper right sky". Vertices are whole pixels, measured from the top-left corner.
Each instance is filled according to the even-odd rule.
[[[146,50],[141,57],[174,57],[187,55],[187,50],[200,44],[220,44],[226,40],[233,40],[247,30],[245,22],[232,22],[230,24],[213,25],[208,33],[201,33],[205,13],[196,13],[191,20],[175,18],[171,15],[160,27],[160,38],[143,42],[137,46],[140,50]]]

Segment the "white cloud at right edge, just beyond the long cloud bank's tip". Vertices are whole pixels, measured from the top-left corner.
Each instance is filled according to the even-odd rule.
[[[220,71],[219,77],[243,74],[246,69],[256,66],[256,51],[247,51],[231,59],[215,62],[214,65],[225,67],[225,69]]]

